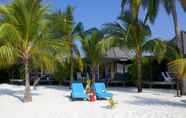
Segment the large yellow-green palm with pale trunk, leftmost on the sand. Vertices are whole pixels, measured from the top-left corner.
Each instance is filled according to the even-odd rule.
[[[57,51],[63,43],[49,38],[46,13],[47,7],[41,0],[14,0],[0,6],[0,64],[21,61],[24,65],[24,102],[32,101],[31,68],[54,71],[55,57],[61,55]]]

